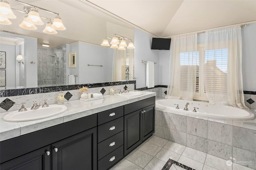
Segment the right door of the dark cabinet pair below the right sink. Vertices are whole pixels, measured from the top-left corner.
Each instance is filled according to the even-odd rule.
[[[142,109],[142,141],[148,139],[155,131],[155,105]]]

